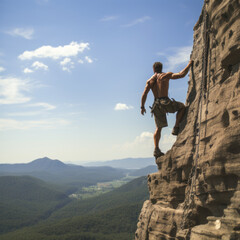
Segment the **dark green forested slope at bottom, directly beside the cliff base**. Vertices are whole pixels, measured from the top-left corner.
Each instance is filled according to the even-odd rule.
[[[109,193],[72,200],[48,219],[7,234],[1,240],[129,240],[144,200],[147,178],[135,179]],[[2,224],[7,224],[2,219]]]

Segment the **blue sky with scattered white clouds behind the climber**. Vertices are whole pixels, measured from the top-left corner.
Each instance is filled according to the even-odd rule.
[[[1,163],[152,156],[152,64],[187,64],[203,0],[0,0]],[[185,102],[188,77],[170,82]],[[167,151],[175,137],[162,131]]]

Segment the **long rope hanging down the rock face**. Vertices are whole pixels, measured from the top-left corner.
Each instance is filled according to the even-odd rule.
[[[185,228],[186,220],[191,214],[191,209],[194,207],[194,197],[196,195],[196,180],[198,177],[198,160],[199,160],[199,145],[200,145],[200,127],[202,121],[202,101],[203,91],[206,91],[207,83],[207,66],[208,66],[208,48],[209,48],[209,34],[208,34],[208,13],[206,11],[206,0],[203,6],[203,41],[204,49],[202,55],[202,81],[200,85],[200,96],[198,100],[198,112],[196,116],[196,122],[194,124],[194,147],[193,147],[193,166],[189,174],[187,182],[187,192],[183,203],[183,216],[181,229]],[[192,69],[193,71],[193,69]],[[205,97],[205,95],[204,95]]]

